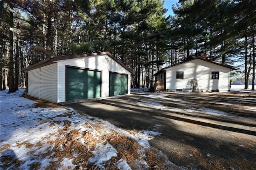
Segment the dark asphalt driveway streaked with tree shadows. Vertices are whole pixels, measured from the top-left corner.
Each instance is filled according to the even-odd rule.
[[[256,93],[143,93],[68,103],[130,130],[161,132],[151,146],[183,168],[256,167]]]

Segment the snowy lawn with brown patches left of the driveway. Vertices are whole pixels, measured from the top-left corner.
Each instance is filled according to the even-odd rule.
[[[123,130],[70,107],[1,91],[0,153],[3,169],[180,169],[150,147],[158,132]]]

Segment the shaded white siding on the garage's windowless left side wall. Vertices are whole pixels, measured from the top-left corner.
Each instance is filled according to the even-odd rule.
[[[28,71],[28,95],[57,103],[57,63]]]

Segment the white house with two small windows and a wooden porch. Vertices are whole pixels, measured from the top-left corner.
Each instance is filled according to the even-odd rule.
[[[230,90],[230,71],[236,67],[196,57],[158,71],[156,91],[220,91]]]

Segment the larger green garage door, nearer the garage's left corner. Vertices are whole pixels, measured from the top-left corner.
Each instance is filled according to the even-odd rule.
[[[66,100],[100,97],[101,72],[67,68]]]

